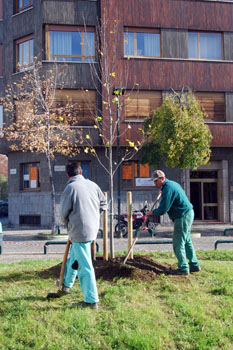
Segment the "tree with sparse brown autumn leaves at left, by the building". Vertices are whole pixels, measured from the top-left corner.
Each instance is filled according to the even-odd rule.
[[[74,155],[82,143],[82,131],[75,126],[78,113],[72,100],[59,102],[58,89],[63,89],[61,69],[56,63],[43,72],[41,62],[34,61],[21,78],[9,84],[5,91],[4,110],[8,123],[4,134],[12,150],[44,154],[47,159],[52,201],[52,234],[56,232],[55,187],[52,160],[55,154]],[[58,79],[59,76],[59,79]],[[77,109],[77,108],[76,108]],[[75,153],[74,153],[75,152]]]

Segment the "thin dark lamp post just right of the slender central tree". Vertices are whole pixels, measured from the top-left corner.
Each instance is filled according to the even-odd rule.
[[[115,86],[113,95],[115,95],[116,101],[116,116],[117,116],[117,208],[118,208],[118,234],[121,236],[121,147],[120,147],[120,110],[119,110],[119,97],[124,95],[125,87]]]

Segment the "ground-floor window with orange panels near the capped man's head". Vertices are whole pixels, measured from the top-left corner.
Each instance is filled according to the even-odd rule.
[[[131,167],[131,178],[126,178],[124,177],[124,167]],[[143,168],[145,168],[144,171],[147,172],[148,176],[140,176],[140,172],[141,170],[143,171]],[[125,174],[126,175],[126,174]],[[127,175],[129,176],[129,175]],[[127,162],[123,162],[121,165],[121,182],[122,182],[122,188],[123,189],[151,189],[154,187],[154,183],[151,183],[151,186],[137,186],[136,185],[136,179],[138,178],[144,178],[149,180],[151,178],[150,175],[150,166],[149,164],[141,164],[139,161],[135,161],[135,160],[131,160],[131,161],[127,161]],[[124,181],[131,181],[131,184],[125,184]]]

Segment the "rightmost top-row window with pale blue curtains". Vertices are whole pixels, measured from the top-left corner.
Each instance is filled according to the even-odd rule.
[[[197,59],[222,60],[222,34],[189,32],[188,57]]]

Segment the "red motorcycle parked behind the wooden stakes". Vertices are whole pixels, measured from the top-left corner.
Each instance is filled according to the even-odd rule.
[[[133,211],[133,229],[136,230],[142,226],[146,218],[146,212],[148,210],[147,202],[144,203],[144,207],[141,210]],[[128,234],[128,215],[121,214],[120,216],[120,224],[119,222],[115,226],[115,235],[119,235],[119,231],[121,231],[122,236],[126,237]],[[118,221],[118,215],[114,215],[114,219]],[[156,223],[147,220],[145,229],[150,229],[153,232],[153,235],[156,234]]]

